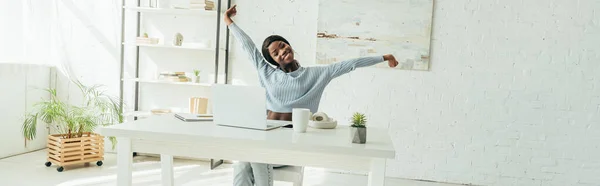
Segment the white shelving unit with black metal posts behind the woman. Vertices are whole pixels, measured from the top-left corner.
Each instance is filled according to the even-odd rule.
[[[127,87],[127,89],[124,90],[129,90],[129,88],[132,87],[136,88],[136,91],[127,91],[127,95],[122,90],[122,94],[124,95],[124,101],[128,103],[131,102],[132,104],[134,104],[132,105],[132,108],[127,108],[125,112],[123,112],[123,114],[125,116],[128,116],[128,119],[138,120],[148,118],[154,115],[160,115],[152,113],[151,111],[153,110],[153,108],[171,109],[172,113],[187,113],[189,111],[189,108],[187,108],[187,104],[185,104],[184,106],[184,103],[181,103],[177,100],[187,100],[190,96],[196,95],[196,93],[190,93],[189,91],[200,91],[200,93],[202,94],[205,94],[205,92],[208,91],[206,92],[209,94],[207,96],[210,96],[210,89],[213,87],[213,85],[217,84],[216,81],[218,79],[222,78],[219,73],[219,70],[221,70],[221,66],[223,66],[223,63],[225,68],[228,68],[229,59],[224,58],[224,55],[227,56],[229,54],[230,49],[226,49],[228,45],[222,43],[225,40],[225,37],[228,37],[230,34],[223,32],[226,30],[226,25],[223,24],[222,19],[218,18],[220,17],[219,15],[223,15],[224,9],[220,9],[217,6],[215,6],[213,10],[205,10],[202,5],[202,7],[198,6],[198,8],[194,7],[194,9],[189,9],[186,5],[187,2],[177,2],[178,4],[160,6],[160,8],[153,8],[149,7],[149,5],[140,5],[139,1],[123,1],[125,3],[119,6],[119,8],[122,8],[121,11],[125,11],[125,13],[122,15],[123,19],[132,20],[133,18],[135,18],[135,20],[123,21],[121,23],[121,26],[124,29],[122,32],[123,35],[121,36],[122,38],[119,41],[121,47],[123,48],[123,57],[121,59],[121,65],[125,68],[125,71],[135,72],[135,75],[129,77],[123,77],[123,75],[121,75],[119,79],[122,81],[122,83],[124,82],[124,86]],[[217,2],[218,1],[215,1],[215,3]],[[168,24],[162,25],[164,23]],[[168,28],[165,26],[176,26],[177,28]],[[206,30],[206,33],[203,32],[201,35],[198,35],[196,37],[190,36],[192,39],[185,39],[182,46],[174,46],[173,39],[172,37],[170,37],[174,35],[174,33],[171,32],[185,33],[190,29],[198,29],[197,27],[209,30]],[[158,38],[159,42],[157,42],[156,40],[148,40],[151,42],[144,42],[146,40],[139,40],[139,37],[142,37],[141,35],[143,35],[144,32],[151,32],[148,33],[151,34],[148,37]],[[156,32],[155,35],[153,34],[154,32]],[[186,36],[186,38],[190,37]],[[163,56],[163,54],[161,54],[160,56],[142,57],[142,55],[144,54],[155,52],[175,56],[173,56],[174,58],[167,58],[169,56]],[[193,56],[189,56],[188,54],[193,54]],[[145,70],[147,69],[140,68],[141,64],[147,61],[157,63],[169,63],[169,61],[172,60],[176,60],[177,65],[182,65],[184,67],[188,65],[196,66],[198,65],[198,61],[194,59],[199,57],[199,55],[202,58],[214,58],[213,60],[215,60],[214,63],[204,59],[200,61],[200,63],[206,62],[206,64],[215,65],[215,72],[212,72],[213,70],[206,69],[207,73],[214,74],[203,75],[201,78],[201,80],[204,81],[203,83],[176,82],[178,79],[163,79],[162,76],[158,76],[156,72],[150,72],[150,74],[148,74],[147,72],[145,72]],[[134,63],[135,65],[127,65],[128,63]],[[151,71],[174,71],[174,69],[171,69],[169,67],[153,66]],[[180,71],[185,70],[180,69]],[[190,70],[188,69],[188,71]],[[193,76],[190,75],[187,71],[185,72],[185,74],[188,77]],[[224,76],[227,79],[227,72],[225,72]],[[170,95],[168,97],[168,100],[161,100],[155,102],[155,100],[152,100],[152,98],[146,98],[146,96],[162,97],[164,93],[172,93],[173,91],[175,91],[177,94]],[[132,118],[131,116],[136,117]]]

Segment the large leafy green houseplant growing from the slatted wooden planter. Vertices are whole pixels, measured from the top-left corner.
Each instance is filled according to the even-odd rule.
[[[56,89],[45,89],[50,93],[50,99],[36,103],[34,110],[27,114],[23,122],[23,136],[27,140],[35,139],[38,120],[54,129],[54,132],[63,134],[66,139],[81,137],[86,132],[93,132],[98,126],[123,122],[120,101],[100,90],[102,86],[88,87],[80,81],[73,83],[81,90],[83,103],[65,103],[58,98]],[[109,139],[114,149],[116,138]]]

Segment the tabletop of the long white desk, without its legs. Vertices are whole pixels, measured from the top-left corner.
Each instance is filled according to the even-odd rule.
[[[366,144],[354,144],[348,126],[314,129],[295,133],[293,129],[269,131],[215,125],[209,121],[184,122],[173,115],[151,116],[132,122],[100,128],[104,136],[133,139],[195,142],[212,140],[220,144],[277,148],[314,153],[353,154],[357,156],[394,158],[395,150],[387,129],[367,128]],[[164,139],[164,140],[162,140]]]

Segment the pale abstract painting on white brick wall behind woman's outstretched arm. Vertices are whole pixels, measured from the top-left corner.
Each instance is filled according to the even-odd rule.
[[[320,0],[316,63],[393,54],[396,69],[429,70],[432,15],[433,0]]]

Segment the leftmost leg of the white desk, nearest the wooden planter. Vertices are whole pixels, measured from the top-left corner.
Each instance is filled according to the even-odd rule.
[[[131,186],[133,157],[131,156],[131,139],[117,137],[117,185]]]

